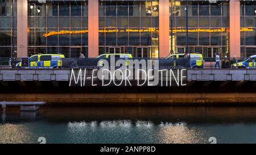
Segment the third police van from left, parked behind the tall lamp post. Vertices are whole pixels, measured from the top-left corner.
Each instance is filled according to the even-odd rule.
[[[184,54],[175,54],[168,56],[167,58],[184,58]],[[203,68],[203,55],[191,53],[189,54],[191,68]]]

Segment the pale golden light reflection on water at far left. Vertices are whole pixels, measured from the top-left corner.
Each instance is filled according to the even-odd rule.
[[[33,143],[32,132],[25,125],[20,124],[0,124],[0,143]],[[35,142],[34,142],[35,143]]]

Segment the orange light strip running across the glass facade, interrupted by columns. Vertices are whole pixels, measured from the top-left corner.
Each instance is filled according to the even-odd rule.
[[[170,30],[171,31],[171,30]],[[184,28],[180,29],[175,29],[172,32],[173,33],[179,33],[179,32],[186,32],[187,30]],[[195,29],[189,29],[188,32],[225,32],[226,28],[195,28]],[[253,31],[253,28],[251,27],[243,27],[240,28],[240,31]],[[62,30],[62,31],[51,31],[49,33],[44,33],[44,37],[48,36],[53,36],[53,35],[65,35],[65,34],[79,34],[79,33],[88,33],[89,30],[82,30],[82,31],[67,31],[67,30]],[[118,30],[118,29],[104,29],[104,30],[99,30],[99,33],[113,33],[113,32],[152,32],[152,33],[157,33],[159,32],[158,28],[146,28],[146,29],[131,29],[127,28],[125,30]]]

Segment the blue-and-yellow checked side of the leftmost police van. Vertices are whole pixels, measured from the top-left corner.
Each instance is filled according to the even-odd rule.
[[[65,58],[64,55],[47,54],[47,55],[34,55],[28,58],[29,68],[59,68],[62,66],[61,58]],[[19,62],[17,67],[21,68],[22,63]]]

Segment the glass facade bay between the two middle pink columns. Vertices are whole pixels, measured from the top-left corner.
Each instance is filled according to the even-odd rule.
[[[100,2],[99,54],[159,56],[158,1]]]

